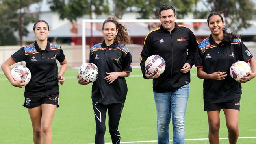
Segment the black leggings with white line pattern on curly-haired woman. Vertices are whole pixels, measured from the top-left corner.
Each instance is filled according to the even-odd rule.
[[[108,127],[113,144],[120,144],[120,133],[118,124],[121,117],[124,103],[103,105],[93,101],[93,111],[96,122],[95,144],[104,144],[104,134],[106,131],[105,120],[108,109]]]

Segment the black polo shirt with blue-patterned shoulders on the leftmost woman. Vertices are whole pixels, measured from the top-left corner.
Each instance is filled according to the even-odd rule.
[[[56,59],[63,62],[65,55],[60,46],[48,42],[46,49],[41,50],[37,42],[20,48],[11,55],[17,63],[25,61],[31,72],[31,80],[25,87],[24,95],[46,94],[59,92],[58,67]]]

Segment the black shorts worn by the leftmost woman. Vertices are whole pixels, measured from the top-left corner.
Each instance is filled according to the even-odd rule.
[[[42,104],[52,104],[59,107],[59,93],[52,92],[50,94],[39,94],[39,95],[26,95],[24,101],[24,107],[33,108],[38,107]]]

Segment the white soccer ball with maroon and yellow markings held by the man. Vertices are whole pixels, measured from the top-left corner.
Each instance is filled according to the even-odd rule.
[[[159,55],[151,55],[145,61],[145,69],[149,74],[162,74],[165,71],[165,60]]]

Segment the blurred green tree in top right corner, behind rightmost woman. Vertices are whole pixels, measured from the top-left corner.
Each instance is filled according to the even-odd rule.
[[[226,17],[226,25],[232,30],[251,26],[249,20],[252,20],[255,12],[255,4],[251,0],[207,0],[206,2],[202,0],[202,2],[208,10],[195,11],[196,18],[207,18],[210,12],[217,11]]]

